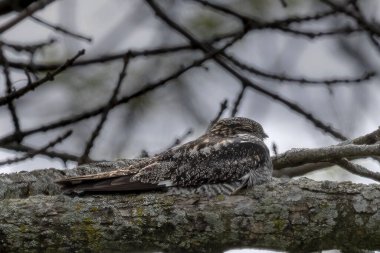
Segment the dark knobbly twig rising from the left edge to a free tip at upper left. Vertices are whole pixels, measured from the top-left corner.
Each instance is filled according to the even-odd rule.
[[[23,87],[17,91],[10,93],[7,96],[0,97],[0,106],[7,104],[16,98],[19,98],[19,97],[25,95],[29,91],[34,90],[38,86],[40,86],[40,85],[42,85],[48,81],[54,80],[54,77],[56,75],[60,74],[64,70],[66,70],[78,57],[84,55],[84,53],[85,53],[85,50],[80,50],[73,58],[68,59],[63,65],[61,65],[59,68],[54,70],[52,73],[48,72],[48,73],[46,73],[45,77],[43,77],[43,78],[41,78],[41,79],[39,79],[33,83],[30,83],[29,85],[27,85],[27,86],[25,86],[25,87]]]

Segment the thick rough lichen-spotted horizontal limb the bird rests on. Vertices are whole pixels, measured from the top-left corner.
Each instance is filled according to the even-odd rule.
[[[130,162],[1,175],[0,252],[380,249],[378,184],[275,179],[239,196],[70,197],[53,183]]]

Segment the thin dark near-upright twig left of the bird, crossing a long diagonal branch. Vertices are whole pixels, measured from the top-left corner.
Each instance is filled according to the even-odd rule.
[[[88,156],[90,154],[92,147],[94,146],[95,139],[99,136],[100,131],[102,130],[103,125],[107,119],[107,116],[108,116],[110,110],[113,108],[112,104],[114,104],[117,100],[117,95],[119,94],[121,84],[123,83],[123,80],[126,76],[128,62],[129,62],[129,55],[126,55],[124,57],[123,67],[122,67],[121,72],[119,74],[119,79],[117,80],[116,86],[115,86],[114,90],[112,91],[112,95],[111,95],[111,97],[107,103],[107,106],[104,107],[104,109],[103,109],[103,112],[100,116],[100,120],[99,120],[98,125],[96,126],[95,130],[92,132],[90,139],[87,141],[84,152],[83,152],[82,156],[80,157],[80,159],[78,160],[79,164],[88,162]]]

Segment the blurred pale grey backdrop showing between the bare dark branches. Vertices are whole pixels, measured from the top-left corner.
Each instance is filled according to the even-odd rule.
[[[202,5],[201,2],[158,1],[167,15],[186,27],[200,41],[218,36],[223,38],[226,34],[242,29],[242,22],[236,16]],[[331,6],[322,2],[211,1],[263,23],[312,17],[330,11]],[[348,2],[356,5],[356,1]],[[358,1],[357,4],[363,17],[377,24],[380,3],[367,0]],[[354,7],[351,9],[355,11]],[[19,12],[15,11],[3,14],[0,16],[0,26],[18,15]],[[56,27],[51,28],[38,20]],[[57,26],[85,38],[68,35]],[[332,13],[320,19],[251,29],[226,52],[263,73],[306,80],[268,78],[244,69],[238,70],[252,82],[297,104],[345,137],[354,138],[372,132],[380,125],[380,119],[376,116],[380,105],[379,78],[376,73],[380,50],[376,47],[376,38],[371,36],[350,16]],[[50,43],[50,40],[54,42]],[[128,50],[189,45],[186,38],[168,27],[155,16],[145,1],[140,0],[53,1],[34,13],[33,18],[26,18],[2,32],[1,41],[3,55],[10,65],[8,70],[13,90],[28,85],[28,79],[35,81],[44,77],[44,66],[47,69],[50,66],[49,71],[52,72],[54,68],[51,66],[63,64],[81,49],[86,49],[86,53],[78,62],[123,54]],[[225,45],[224,41],[228,41],[228,37],[213,42],[213,45],[221,47]],[[18,51],[14,47],[39,43],[46,45],[33,52]],[[193,48],[131,59],[118,98],[130,96],[165,79],[203,55],[200,50]],[[53,81],[14,100],[19,128],[21,131],[36,129],[106,104],[117,83],[122,63],[122,57],[119,57],[105,62],[69,66]],[[370,78],[361,78],[368,77],[368,73]],[[337,79],[360,81],[329,82]],[[308,83],[307,80],[317,82]],[[7,94],[3,72],[0,81],[3,83],[0,95],[3,97]],[[154,155],[171,147],[177,138],[182,142],[197,138],[218,115],[221,103],[225,100],[228,104],[222,117],[230,117],[234,104],[239,100],[236,116],[260,122],[269,135],[267,145],[272,147],[275,144],[278,153],[291,148],[322,147],[341,141],[278,100],[249,87],[242,93],[239,80],[215,61],[208,60],[201,67],[192,68],[157,89],[113,107],[94,141],[89,158],[115,160],[140,157],[142,154]],[[97,114],[49,131],[38,131],[22,138],[22,144],[38,149],[57,138],[64,130],[71,129],[73,134],[69,138],[49,150],[81,157],[99,119],[100,114]],[[0,138],[15,132],[12,113],[7,105],[0,107],[0,122]],[[189,130],[192,130],[190,134]],[[25,152],[20,152],[16,146],[9,143],[0,145],[0,160],[23,157]],[[273,154],[273,149],[271,151]],[[36,155],[20,162],[4,162],[0,172],[48,167],[64,169],[76,164],[70,159]],[[378,165],[371,161],[363,161],[363,164],[378,169]],[[313,172],[307,176],[371,182],[339,168]]]

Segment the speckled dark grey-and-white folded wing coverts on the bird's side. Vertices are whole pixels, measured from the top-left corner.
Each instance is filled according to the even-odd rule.
[[[172,161],[157,171],[146,167],[131,180],[164,182],[167,186],[196,187],[202,184],[230,183],[268,162],[269,151],[258,138],[201,138],[171,153]]]

